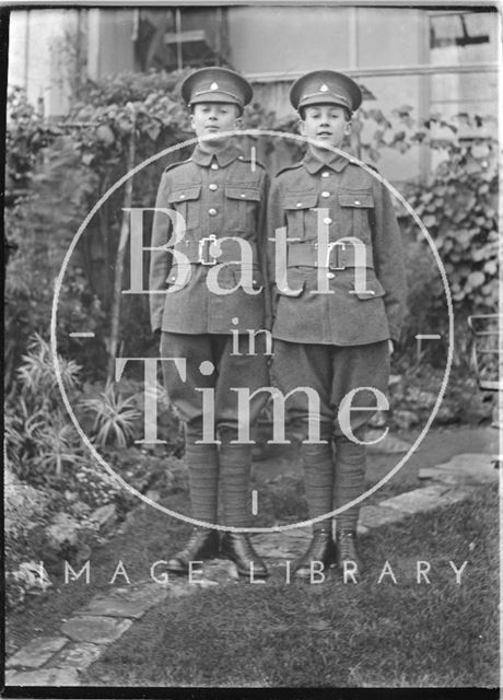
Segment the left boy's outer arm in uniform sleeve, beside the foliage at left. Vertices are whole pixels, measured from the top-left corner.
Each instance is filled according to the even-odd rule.
[[[155,199],[155,209],[167,209],[168,184],[167,175],[163,174]],[[162,211],[155,211],[152,223],[151,247],[159,248],[166,245],[171,237],[171,219]],[[161,330],[164,311],[166,279],[171,268],[172,256],[166,250],[151,250],[150,253],[150,275],[149,275],[149,302],[150,323],[152,331]],[[152,293],[154,292],[154,293]]]

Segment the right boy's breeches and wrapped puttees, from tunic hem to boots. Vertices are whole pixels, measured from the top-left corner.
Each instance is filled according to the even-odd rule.
[[[317,406],[311,411],[306,392],[297,390],[288,399],[289,416],[303,441],[309,517],[319,517],[354,500],[364,489],[366,447],[365,425],[376,406],[372,389],[386,394],[389,377],[387,340],[366,346],[325,346],[274,341],[273,381],[286,394],[299,387],[315,389]],[[354,389],[361,389],[354,392]],[[354,394],[350,395],[351,392]],[[351,398],[344,410],[342,401]],[[358,408],[366,410],[355,410]],[[319,420],[319,439],[309,441],[309,422]],[[354,438],[355,440],[353,440]],[[360,505],[337,516],[337,527],[354,530]],[[315,529],[327,527],[325,521]]]

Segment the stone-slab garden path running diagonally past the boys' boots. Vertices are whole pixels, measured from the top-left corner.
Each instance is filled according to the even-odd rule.
[[[491,429],[469,430],[466,435],[438,433],[426,451],[411,459],[411,468],[421,486],[363,505],[360,535],[367,536],[375,528],[464,501],[482,485],[498,481],[499,470],[490,452],[492,448],[495,453],[496,445],[498,434]],[[408,446],[408,443],[395,436],[381,444],[378,452],[372,454],[377,472],[381,468],[379,455],[386,456],[389,464],[390,453],[403,453]],[[463,450],[469,452],[459,453]],[[290,472],[292,468],[299,468],[297,464],[292,467],[291,458],[284,457],[282,462],[278,456],[268,455],[266,460],[258,463],[258,469],[270,469],[268,462],[274,463],[276,476],[288,465]],[[406,482],[408,478],[403,475]],[[286,561],[305,550],[309,537],[308,527],[253,535],[254,544],[271,570],[271,576],[265,585],[277,585],[280,580],[284,582]],[[194,595],[200,587],[236,584],[234,564],[215,559],[206,562],[190,583],[185,579],[172,579],[166,584],[149,580],[115,588],[112,593],[98,593],[61,625],[58,635],[34,639],[8,658],[5,684],[10,687],[79,686],[79,672],[96,661],[151,607],[168,596]]]

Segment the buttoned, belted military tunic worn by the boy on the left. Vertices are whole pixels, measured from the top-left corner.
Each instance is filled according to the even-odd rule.
[[[166,168],[155,208],[173,209],[184,218],[185,236],[175,247],[190,260],[191,269],[188,283],[178,283],[184,281],[184,271],[172,264],[168,250],[162,248],[171,245],[173,225],[164,212],[156,211],[149,284],[152,330],[229,334],[235,327],[232,319],[238,317],[239,328],[246,332],[247,328],[259,329],[269,323],[265,269],[267,187],[264,167],[252,164],[232,141],[214,153],[198,145],[188,161]],[[221,255],[212,258],[210,236],[232,236],[252,245],[255,293],[244,289],[229,294],[210,291],[207,278],[215,264],[225,264],[219,272],[219,287],[236,288],[241,279],[237,262],[242,258],[233,242],[223,243]],[[169,293],[165,293],[167,288],[172,288]],[[262,291],[256,293],[260,288]]]

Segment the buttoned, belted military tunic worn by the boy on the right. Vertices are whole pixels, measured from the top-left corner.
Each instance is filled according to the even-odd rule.
[[[350,260],[344,269],[336,269],[348,255],[341,252],[338,260],[337,248],[330,256],[331,269],[325,272],[331,293],[311,293],[317,289],[313,260],[318,217],[328,225],[330,242],[353,236],[365,244],[369,293],[349,293],[354,287],[354,264]],[[307,151],[302,162],[272,180],[269,237],[281,226],[286,226],[289,238],[296,240],[289,243],[288,280],[292,290],[302,289],[302,293],[286,296],[276,290],[274,338],[337,346],[398,340],[405,311],[401,238],[391,199],[381,182],[347,158],[334,155],[325,163]],[[308,257],[311,265],[303,265]]]

